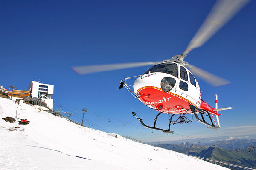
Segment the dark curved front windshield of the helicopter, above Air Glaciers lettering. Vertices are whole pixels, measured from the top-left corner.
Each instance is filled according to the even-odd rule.
[[[167,74],[172,74],[175,77],[178,77],[178,66],[175,63],[162,63],[158,65],[154,65],[151,68],[148,68],[147,71],[145,71],[143,74],[148,73],[154,73],[154,72],[162,72]]]

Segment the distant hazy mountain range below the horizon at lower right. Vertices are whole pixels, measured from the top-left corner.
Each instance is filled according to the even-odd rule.
[[[169,150],[186,153],[192,156],[256,168],[256,140],[237,139],[217,141],[212,144],[159,144]]]

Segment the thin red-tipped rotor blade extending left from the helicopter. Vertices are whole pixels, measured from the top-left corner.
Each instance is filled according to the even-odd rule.
[[[84,65],[72,67],[79,74],[90,74],[103,71],[112,71],[125,68],[141,67],[146,65],[155,65],[161,62],[133,62],[121,64],[105,64],[105,65]]]

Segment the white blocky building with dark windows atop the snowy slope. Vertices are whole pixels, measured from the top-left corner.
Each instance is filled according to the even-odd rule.
[[[29,85],[31,97],[40,98],[49,108],[53,108],[53,85],[31,81]]]

